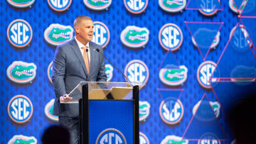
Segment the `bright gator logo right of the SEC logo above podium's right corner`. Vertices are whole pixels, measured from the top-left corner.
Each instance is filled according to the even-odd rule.
[[[183,84],[188,77],[188,69],[185,65],[166,65],[159,72],[159,79],[168,86],[178,86]]]

